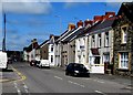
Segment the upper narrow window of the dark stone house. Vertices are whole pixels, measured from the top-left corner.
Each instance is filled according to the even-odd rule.
[[[121,28],[121,41],[122,41],[122,43],[126,43],[126,40],[127,40],[126,31],[127,31],[127,25],[124,25]]]

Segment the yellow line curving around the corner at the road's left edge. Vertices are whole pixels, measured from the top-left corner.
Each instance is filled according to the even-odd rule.
[[[20,78],[18,78],[18,80],[0,80],[0,83],[4,83],[4,82],[20,82],[20,81],[24,81],[27,78],[22,73],[20,73],[13,66],[11,66],[11,68],[19,75]]]

